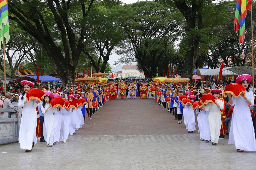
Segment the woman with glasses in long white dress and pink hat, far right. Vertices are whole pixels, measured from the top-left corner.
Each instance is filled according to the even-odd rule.
[[[255,134],[252,123],[251,112],[248,107],[254,104],[253,92],[249,90],[252,76],[242,74],[236,78],[236,83],[241,84],[246,93],[241,94],[238,98],[228,94],[229,103],[234,106],[232,121],[229,132],[228,144],[236,144],[238,152],[256,151]]]

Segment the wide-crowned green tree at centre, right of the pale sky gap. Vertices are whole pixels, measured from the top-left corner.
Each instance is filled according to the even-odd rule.
[[[152,1],[125,4],[120,14],[127,39],[120,46],[123,57],[116,65],[136,61],[145,77],[152,77],[160,58],[182,32],[182,16],[175,7]]]

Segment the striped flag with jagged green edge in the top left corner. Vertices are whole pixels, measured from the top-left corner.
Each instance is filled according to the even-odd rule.
[[[0,0],[0,42],[4,42],[3,39],[3,23],[4,23],[4,37],[6,39],[6,43],[10,40],[9,35],[9,12],[8,12],[8,2],[7,0]]]

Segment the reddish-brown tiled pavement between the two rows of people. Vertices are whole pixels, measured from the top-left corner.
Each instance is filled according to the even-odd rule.
[[[178,124],[174,118],[154,99],[111,99],[92,119],[86,116],[74,135],[188,134],[184,122]],[[191,135],[198,134],[197,114],[195,118],[197,130]]]

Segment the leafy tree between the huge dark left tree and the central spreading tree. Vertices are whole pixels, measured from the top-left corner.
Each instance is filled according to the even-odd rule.
[[[85,20],[90,30],[86,33],[86,47],[83,52],[92,61],[96,72],[104,72],[112,50],[124,36],[123,29],[116,23],[120,5],[111,8],[104,7],[101,2],[97,5],[98,7],[94,7]]]

